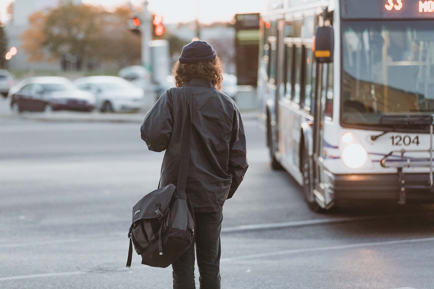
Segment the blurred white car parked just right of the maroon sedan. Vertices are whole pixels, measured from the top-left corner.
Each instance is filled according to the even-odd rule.
[[[143,105],[143,90],[117,76],[89,76],[74,83],[95,95],[96,106],[102,112],[136,111]]]

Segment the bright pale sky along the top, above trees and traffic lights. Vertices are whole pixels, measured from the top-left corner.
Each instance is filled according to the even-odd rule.
[[[0,0],[0,21],[7,21],[6,7],[13,0]],[[83,3],[102,5],[107,9],[124,5],[126,0],[82,0]],[[143,0],[131,0],[142,6]],[[264,0],[148,0],[149,10],[163,16],[163,23],[189,22],[196,18],[196,3],[199,3],[199,22],[213,23],[231,21],[236,13],[258,13]]]

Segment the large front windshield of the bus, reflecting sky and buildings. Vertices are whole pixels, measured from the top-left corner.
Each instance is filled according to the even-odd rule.
[[[432,21],[342,26],[343,125],[379,126],[383,114],[434,112]]]

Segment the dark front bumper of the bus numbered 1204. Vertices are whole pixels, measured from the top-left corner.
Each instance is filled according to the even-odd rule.
[[[406,173],[402,185],[396,174],[333,175],[335,201],[343,199],[434,202],[428,173]],[[404,190],[402,189],[404,187]]]

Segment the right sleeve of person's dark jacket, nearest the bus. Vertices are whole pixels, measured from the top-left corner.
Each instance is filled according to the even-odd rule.
[[[227,196],[228,199],[232,198],[233,194],[237,190],[244,178],[248,166],[243,120],[241,120],[240,112],[236,110],[233,117],[232,136],[229,146],[228,168],[229,173],[232,175],[232,183],[230,185],[229,195]]]

